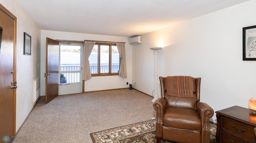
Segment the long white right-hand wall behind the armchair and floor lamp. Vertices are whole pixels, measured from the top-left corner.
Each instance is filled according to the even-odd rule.
[[[143,43],[132,51],[134,88],[152,95],[154,55],[149,48],[163,47],[158,76],[201,77],[201,102],[214,112],[235,105],[248,108],[248,100],[256,98],[256,61],[242,61],[242,27],[256,25],[255,5],[251,0],[142,35]]]

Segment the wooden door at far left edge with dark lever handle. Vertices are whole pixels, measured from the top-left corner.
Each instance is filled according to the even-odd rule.
[[[16,17],[1,4],[0,27],[0,139],[11,141],[16,135]]]

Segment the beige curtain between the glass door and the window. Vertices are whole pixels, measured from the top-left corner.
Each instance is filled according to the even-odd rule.
[[[90,78],[92,78],[89,57],[95,43],[96,42],[94,41],[84,41],[82,80],[89,80]]]

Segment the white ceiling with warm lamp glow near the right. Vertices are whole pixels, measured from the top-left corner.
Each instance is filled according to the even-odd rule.
[[[131,37],[248,0],[16,0],[44,30]]]

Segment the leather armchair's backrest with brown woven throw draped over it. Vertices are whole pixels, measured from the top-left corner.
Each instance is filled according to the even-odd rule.
[[[196,81],[198,79],[199,81]],[[166,98],[167,100],[166,106],[196,110],[196,102],[200,101],[200,79],[201,78],[195,79],[191,76],[160,77],[161,94],[162,94],[161,96],[162,98]],[[173,84],[176,87],[170,88],[170,86],[172,85],[170,84],[170,82],[175,82],[175,81],[176,82],[178,81],[181,84],[179,85],[177,83]],[[186,87],[187,85],[188,87]],[[176,91],[168,91],[168,90],[176,90]],[[182,94],[185,94],[185,95],[182,95]]]

